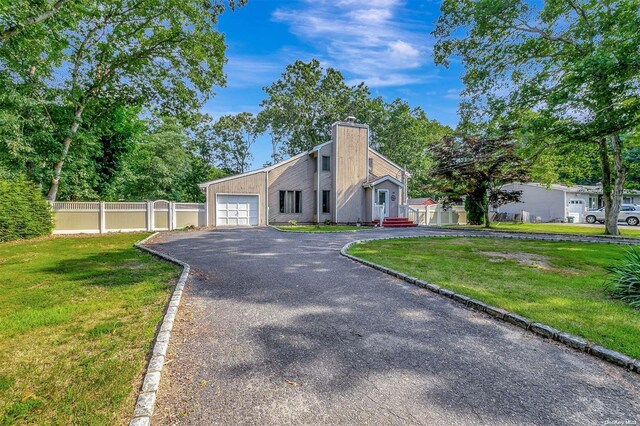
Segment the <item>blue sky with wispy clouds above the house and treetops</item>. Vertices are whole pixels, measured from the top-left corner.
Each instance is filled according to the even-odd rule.
[[[295,60],[316,58],[350,84],[364,81],[373,96],[402,98],[455,126],[462,70],[433,63],[430,32],[438,14],[439,2],[429,0],[249,0],[220,17],[227,87],[217,88],[203,110],[214,118],[257,113],[264,86]],[[253,168],[270,149],[266,138],[257,141]]]

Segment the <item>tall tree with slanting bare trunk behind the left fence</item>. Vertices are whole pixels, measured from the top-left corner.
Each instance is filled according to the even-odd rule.
[[[55,102],[67,110],[49,200],[57,197],[72,141],[85,110],[96,100],[135,98],[180,115],[197,109],[213,85],[224,84],[224,38],[215,24],[225,4],[233,8],[243,3],[91,0],[66,14],[64,49],[55,50],[60,54],[56,61],[47,60],[55,66],[56,75],[46,81],[47,86],[55,93]],[[40,52],[48,54],[48,50]],[[28,69],[14,67],[13,71],[23,80],[33,77]]]

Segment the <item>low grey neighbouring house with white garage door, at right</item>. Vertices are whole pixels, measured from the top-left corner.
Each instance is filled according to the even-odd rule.
[[[520,214],[525,211],[532,219],[539,217],[542,222],[566,222],[569,217],[573,217],[574,222],[583,222],[587,210],[603,206],[601,185],[513,183],[502,189],[522,191],[522,198],[519,203],[499,207],[497,212]],[[626,190],[623,203],[640,203],[640,191]]]

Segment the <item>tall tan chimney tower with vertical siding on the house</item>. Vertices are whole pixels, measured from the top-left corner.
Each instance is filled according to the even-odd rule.
[[[368,176],[369,128],[336,124],[332,129],[332,165],[335,222],[355,223],[365,217],[365,190]]]

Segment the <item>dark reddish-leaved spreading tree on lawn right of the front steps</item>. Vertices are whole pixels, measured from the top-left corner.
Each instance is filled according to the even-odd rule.
[[[527,168],[508,134],[471,137],[446,136],[430,148],[434,167],[429,189],[444,196],[445,204],[466,197],[467,220],[471,225],[490,226],[489,206],[518,202],[521,191],[502,186],[527,180]]]

